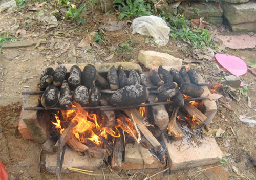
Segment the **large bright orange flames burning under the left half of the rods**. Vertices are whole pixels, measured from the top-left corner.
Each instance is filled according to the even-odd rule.
[[[98,122],[96,114],[89,114],[88,111],[82,109],[78,103],[73,102],[73,107],[77,107],[78,109],[61,110],[61,114],[67,123],[72,121],[72,123],[76,124],[72,129],[72,133],[81,143],[86,143],[90,140],[98,146],[102,146],[102,138],[107,140],[109,138],[108,136],[120,137],[120,128],[130,135],[135,134],[135,136],[137,136],[134,124],[125,116],[123,116],[123,121],[125,122],[117,118],[116,121],[114,121],[116,124],[106,123],[106,125],[104,125]],[[62,134],[65,129],[61,127],[61,121],[57,114],[55,114],[55,118],[56,123],[52,123],[55,125],[55,128],[60,129],[60,133]]]

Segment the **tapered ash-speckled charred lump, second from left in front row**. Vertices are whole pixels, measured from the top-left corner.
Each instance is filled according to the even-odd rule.
[[[71,91],[68,81],[64,80],[60,89],[59,106],[61,108],[72,107]]]

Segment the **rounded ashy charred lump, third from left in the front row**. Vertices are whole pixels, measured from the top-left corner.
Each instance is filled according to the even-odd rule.
[[[72,96],[72,100],[80,104],[81,106],[87,105],[88,102],[88,89],[86,86],[78,86]]]

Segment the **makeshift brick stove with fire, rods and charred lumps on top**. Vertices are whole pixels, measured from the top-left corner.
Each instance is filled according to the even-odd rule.
[[[130,62],[105,63],[95,68],[73,65],[62,65],[57,75],[55,70],[55,76],[64,76],[62,80],[52,78],[52,70],[47,69],[41,74],[39,85],[34,82],[23,92],[26,95],[19,131],[26,139],[44,143],[48,172],[59,169],[60,156],[56,152],[65,149],[66,144],[62,172],[75,171],[74,168],[95,170],[109,157],[115,170],[164,167],[165,153],[172,170],[212,164],[222,158],[215,139],[202,137],[198,128],[209,125],[217,112],[207,83],[195,71],[190,71],[189,76],[198,76],[199,81],[194,82],[197,85],[179,81],[186,79],[183,73],[189,66],[142,72],[138,64]],[[84,75],[78,67],[89,67],[89,73]],[[169,71],[177,83],[168,82]],[[123,84],[120,77],[125,78],[127,72],[129,77]],[[79,79],[75,75],[88,77],[82,83],[91,87],[89,92],[77,85]],[[92,87],[95,80],[96,88]],[[55,86],[49,85],[52,81]],[[125,86],[127,82],[129,85]],[[61,88],[60,94],[57,87]]]

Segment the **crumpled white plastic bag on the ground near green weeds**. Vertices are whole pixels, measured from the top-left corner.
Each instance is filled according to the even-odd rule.
[[[146,36],[153,36],[155,42],[164,46],[169,41],[170,28],[166,22],[157,16],[141,16],[133,20],[131,25],[132,34],[139,33]]]

